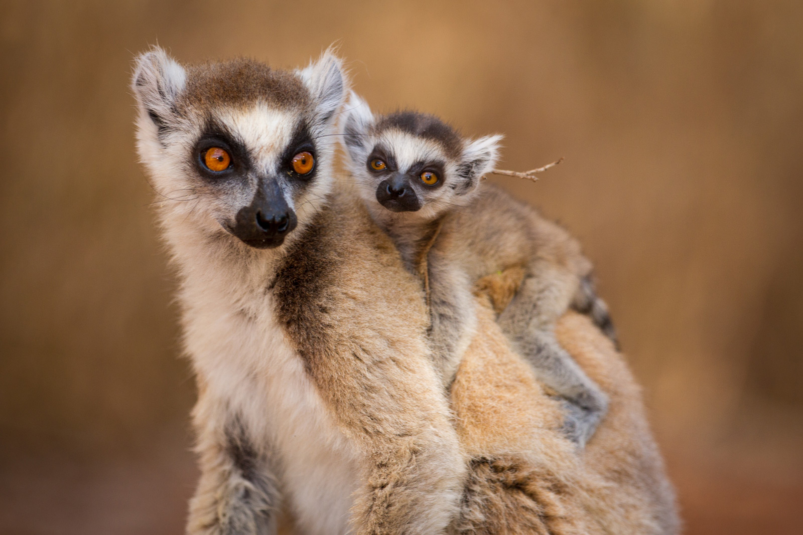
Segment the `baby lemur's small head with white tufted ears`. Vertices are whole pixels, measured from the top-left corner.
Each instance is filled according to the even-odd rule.
[[[491,171],[502,136],[469,140],[437,117],[416,111],[373,116],[352,93],[345,107],[343,140],[361,196],[397,217],[430,221],[465,205]]]

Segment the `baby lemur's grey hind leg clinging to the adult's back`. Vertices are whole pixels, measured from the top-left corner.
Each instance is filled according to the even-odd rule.
[[[554,324],[571,305],[577,286],[577,276],[554,262],[533,261],[516,297],[499,315],[499,326],[539,379],[569,402],[565,432],[582,446],[605,415],[608,399],[555,338]]]

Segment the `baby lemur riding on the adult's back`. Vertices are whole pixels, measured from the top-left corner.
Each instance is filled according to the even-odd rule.
[[[539,379],[565,399],[564,432],[585,445],[607,398],[558,345],[553,326],[574,306],[611,338],[613,327],[580,245],[501,189],[479,187],[494,168],[501,136],[468,140],[415,111],[373,116],[354,94],[346,110],[343,139],[361,197],[409,270],[417,271],[426,255],[430,343],[444,383],[454,378],[471,340],[471,287],[488,274],[520,267],[524,280],[499,325]]]

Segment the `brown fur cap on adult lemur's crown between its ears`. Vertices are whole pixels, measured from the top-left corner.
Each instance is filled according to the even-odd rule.
[[[277,107],[308,104],[309,91],[290,71],[275,71],[254,59],[233,59],[187,68],[184,105],[213,106],[262,101]]]

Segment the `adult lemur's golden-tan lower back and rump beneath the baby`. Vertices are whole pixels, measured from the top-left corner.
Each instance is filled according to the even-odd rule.
[[[484,281],[475,339],[451,390],[471,461],[459,533],[678,532],[671,486],[622,355],[588,318],[570,312],[560,343],[610,395],[609,413],[584,451],[565,440],[559,405],[513,353],[495,323],[515,274]]]

